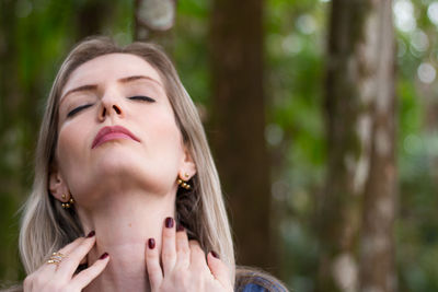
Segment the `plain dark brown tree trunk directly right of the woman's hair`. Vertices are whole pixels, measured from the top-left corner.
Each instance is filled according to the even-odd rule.
[[[269,167],[265,147],[262,0],[216,0],[210,51],[210,138],[240,265],[273,267]]]

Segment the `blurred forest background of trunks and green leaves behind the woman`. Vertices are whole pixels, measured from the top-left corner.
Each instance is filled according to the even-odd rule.
[[[238,262],[293,291],[438,291],[438,1],[0,0],[0,281],[45,98],[89,35],[161,44],[201,114]]]

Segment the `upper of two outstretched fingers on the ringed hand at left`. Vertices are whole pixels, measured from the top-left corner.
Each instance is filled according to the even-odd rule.
[[[84,238],[80,245],[72,249],[65,259],[59,264],[58,273],[71,279],[78,269],[79,262],[90,253],[95,244],[95,236]]]

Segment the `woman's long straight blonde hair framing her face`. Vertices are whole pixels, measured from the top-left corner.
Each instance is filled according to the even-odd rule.
[[[219,176],[210,154],[198,113],[185,91],[170,59],[160,47],[147,43],[117,46],[110,38],[88,38],[77,45],[64,61],[53,84],[39,130],[35,157],[33,190],[25,202],[20,231],[20,254],[25,271],[32,273],[47,255],[79,236],[83,229],[74,209],[66,211],[48,190],[48,175],[58,139],[58,104],[61,90],[71,72],[99,56],[124,52],[141,57],[163,80],[176,124],[192,155],[197,174],[191,179],[191,191],[178,190],[176,220],[199,241],[205,252],[216,250],[231,269],[234,280],[234,252]]]

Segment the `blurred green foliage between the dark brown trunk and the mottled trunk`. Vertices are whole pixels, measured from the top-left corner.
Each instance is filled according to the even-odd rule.
[[[313,217],[326,161],[326,9],[319,1],[272,0],[266,5],[267,141],[272,156],[286,157],[273,160],[273,198],[280,212],[283,279],[296,291],[312,291],[318,270]],[[283,139],[272,139],[273,127]]]

